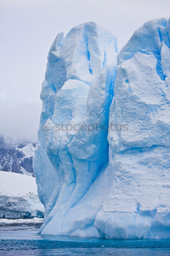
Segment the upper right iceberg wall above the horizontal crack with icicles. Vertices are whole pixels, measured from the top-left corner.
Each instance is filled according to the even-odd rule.
[[[110,132],[119,152],[132,147],[169,147],[170,43],[167,20],[146,22],[120,51],[110,122],[129,130]]]

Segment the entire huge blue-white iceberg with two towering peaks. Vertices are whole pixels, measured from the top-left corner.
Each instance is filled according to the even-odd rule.
[[[167,20],[146,22],[118,57],[116,38],[95,23],[57,35],[33,160],[46,209],[41,234],[170,238]],[[128,131],[55,127],[108,122]]]

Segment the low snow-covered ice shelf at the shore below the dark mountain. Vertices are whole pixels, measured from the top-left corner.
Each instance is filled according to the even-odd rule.
[[[0,218],[43,218],[44,214],[34,177],[0,172]]]

